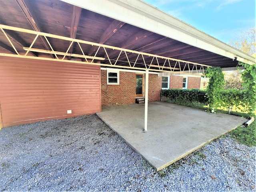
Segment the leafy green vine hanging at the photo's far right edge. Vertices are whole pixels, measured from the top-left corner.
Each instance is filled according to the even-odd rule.
[[[256,64],[249,65],[245,63],[239,63],[244,66],[242,71],[242,86],[244,86],[244,91],[246,97],[244,98],[244,103],[247,104],[249,111],[249,116],[255,116],[256,111]]]

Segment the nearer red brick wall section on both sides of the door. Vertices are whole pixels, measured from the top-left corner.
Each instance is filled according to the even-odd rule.
[[[101,104],[121,105],[135,103],[136,73],[120,71],[119,85],[107,85],[107,71],[101,70]],[[149,101],[159,101],[162,88],[162,77],[157,74],[148,76]]]

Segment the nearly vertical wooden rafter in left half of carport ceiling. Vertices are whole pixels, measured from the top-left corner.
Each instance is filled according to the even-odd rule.
[[[76,38],[76,32],[81,16],[82,8],[73,6],[73,12],[72,12],[72,19],[71,19],[71,27],[70,27],[70,38],[75,39]],[[69,53],[73,52],[74,44],[70,47]],[[70,60],[71,56],[68,57]]]

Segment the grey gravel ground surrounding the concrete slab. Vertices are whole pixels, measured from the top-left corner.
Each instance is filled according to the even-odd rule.
[[[255,152],[227,135],[156,172],[96,115],[48,120],[0,130],[0,191],[255,191]]]

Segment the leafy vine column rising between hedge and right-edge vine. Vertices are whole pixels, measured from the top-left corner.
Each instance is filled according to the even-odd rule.
[[[220,103],[222,103],[220,92],[223,90],[225,83],[224,74],[220,67],[208,67],[205,76],[209,78],[209,83],[206,88],[206,96],[208,97],[207,104],[209,105],[208,110],[213,112],[214,109],[218,108]]]

